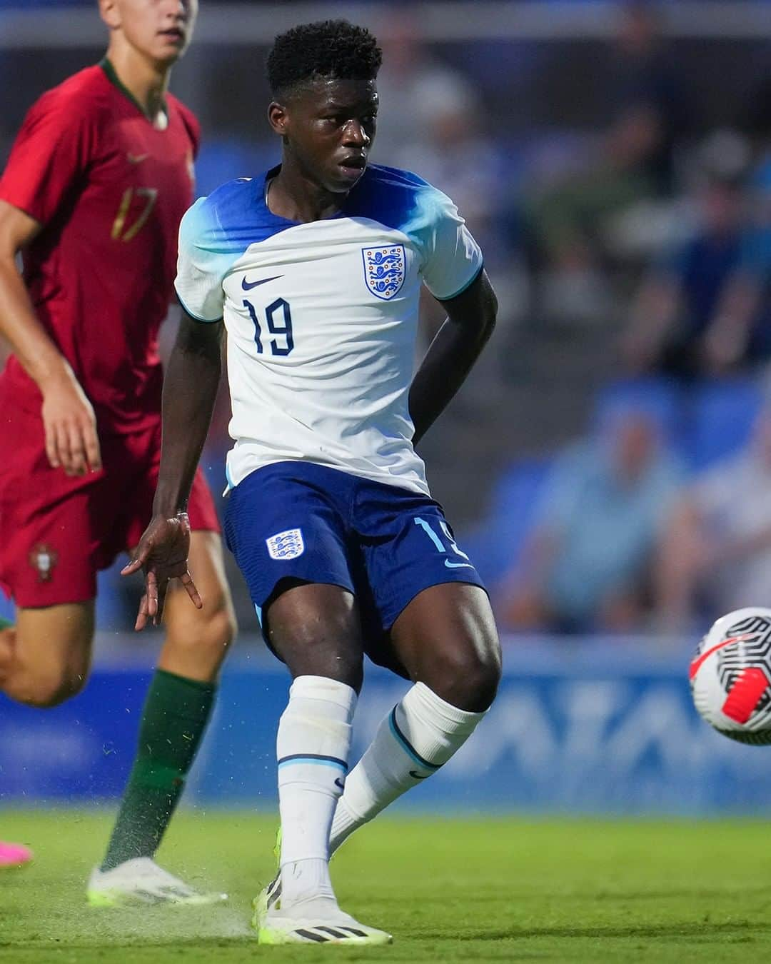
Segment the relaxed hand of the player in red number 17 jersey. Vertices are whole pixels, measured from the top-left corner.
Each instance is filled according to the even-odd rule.
[[[102,467],[93,406],[71,369],[43,390],[42,424],[45,452],[54,469],[85,475]]]

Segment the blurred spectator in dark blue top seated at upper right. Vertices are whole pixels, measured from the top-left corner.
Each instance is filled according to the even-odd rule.
[[[748,217],[748,161],[737,135],[719,132],[707,140],[696,226],[651,269],[632,304],[622,341],[632,371],[689,378],[767,356],[768,339],[756,327],[756,282],[764,269]]]

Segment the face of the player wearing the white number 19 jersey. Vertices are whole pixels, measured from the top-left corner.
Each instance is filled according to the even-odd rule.
[[[374,80],[315,81],[268,108],[284,155],[332,194],[350,191],[364,173],[377,113]]]

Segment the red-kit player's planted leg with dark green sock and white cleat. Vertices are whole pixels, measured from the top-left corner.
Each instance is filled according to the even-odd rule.
[[[195,760],[214,704],[217,675],[235,635],[217,533],[192,534],[190,569],[203,608],[191,605],[179,587],[167,597],[166,641],[147,691],[138,755],[118,820],[101,868],[89,884],[93,903],[147,899],[148,893],[185,903],[222,898],[195,894],[176,878],[170,881],[171,875],[151,859]]]

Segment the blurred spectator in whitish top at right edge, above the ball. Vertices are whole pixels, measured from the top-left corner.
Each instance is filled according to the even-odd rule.
[[[771,408],[738,456],[709,469],[678,501],[658,568],[660,626],[681,631],[771,590]]]

